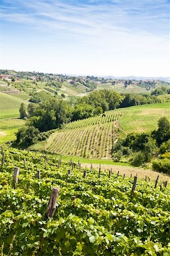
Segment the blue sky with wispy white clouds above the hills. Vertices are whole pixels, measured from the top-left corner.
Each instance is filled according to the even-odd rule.
[[[0,68],[168,77],[169,2],[0,0]]]

